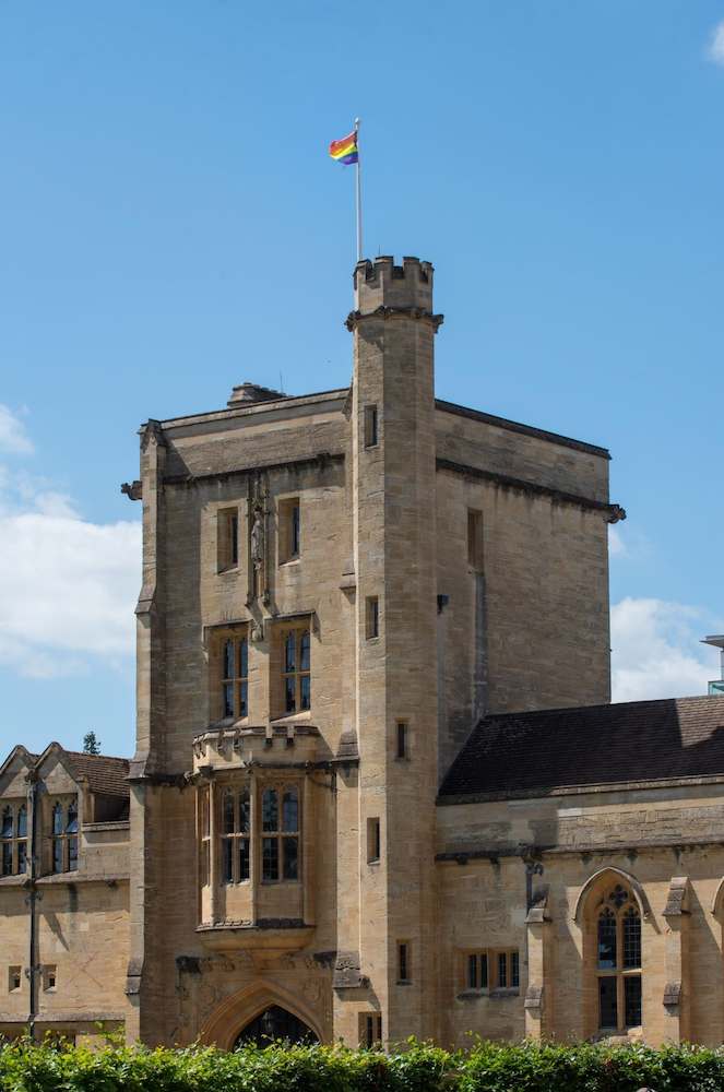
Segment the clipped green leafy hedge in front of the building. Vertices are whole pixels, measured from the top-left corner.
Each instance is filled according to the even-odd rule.
[[[724,1051],[668,1046],[478,1042],[456,1054],[411,1041],[404,1049],[335,1046],[224,1054],[120,1049],[92,1053],[9,1043],[0,1047],[3,1092],[722,1092]]]

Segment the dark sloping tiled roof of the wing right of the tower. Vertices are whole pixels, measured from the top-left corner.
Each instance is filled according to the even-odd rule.
[[[724,776],[724,698],[672,698],[487,716],[439,798]]]

